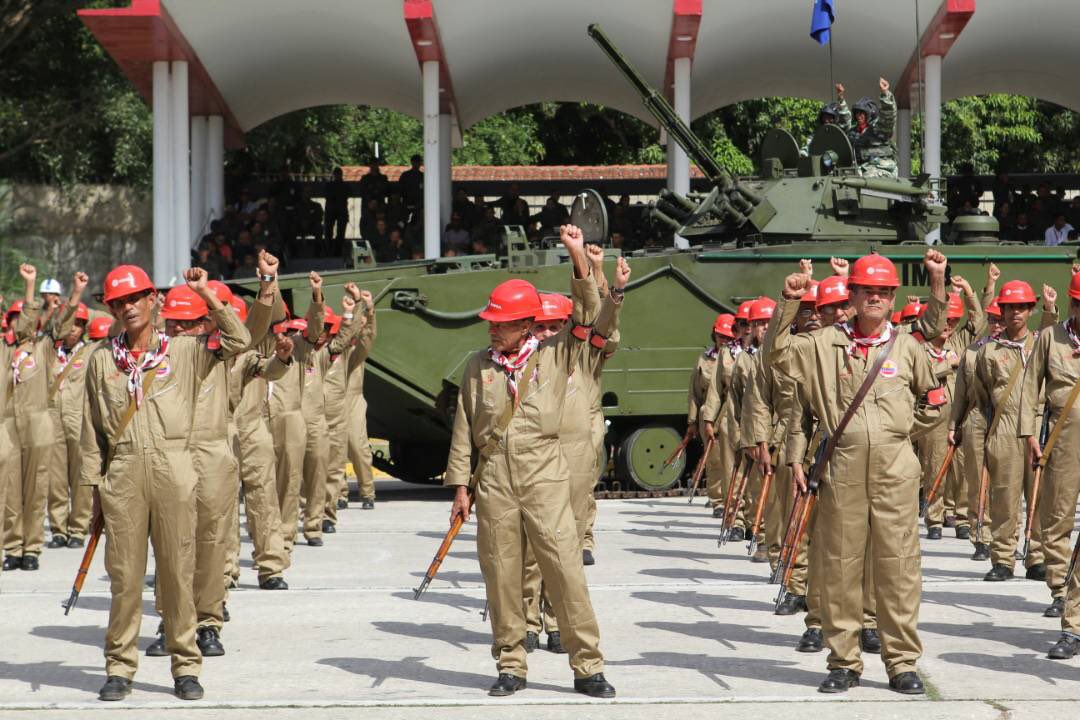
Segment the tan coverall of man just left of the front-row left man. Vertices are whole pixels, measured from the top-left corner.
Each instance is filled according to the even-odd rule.
[[[50,388],[53,423],[63,431],[63,441],[50,448],[49,528],[54,536],[83,540],[90,531],[94,510],[93,491],[79,484],[82,456],[82,407],[86,394],[86,363],[106,341],[80,342],[75,348],[56,350],[54,378]],[[63,354],[62,354],[63,353]]]

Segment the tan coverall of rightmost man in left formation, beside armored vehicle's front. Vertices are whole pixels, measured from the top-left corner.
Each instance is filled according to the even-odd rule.
[[[357,303],[359,309],[359,303]],[[345,327],[349,321],[342,321]],[[367,402],[364,399],[364,367],[375,344],[375,308],[364,309],[363,320],[356,321],[359,331],[343,348],[341,366],[343,388],[338,391],[345,404],[337,431],[330,426],[330,470],[326,485],[326,517],[337,522],[338,498],[349,499],[349,479],[345,463],[352,463],[360,497],[375,500],[375,475],[372,473],[372,444],[367,439]],[[327,407],[330,392],[326,391]],[[327,411],[327,415],[329,412]],[[337,432],[337,435],[335,435]]]

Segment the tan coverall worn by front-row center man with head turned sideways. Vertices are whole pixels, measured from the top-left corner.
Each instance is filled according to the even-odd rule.
[[[570,287],[573,322],[591,324],[597,312],[592,275],[572,280]],[[599,626],[589,599],[581,540],[570,507],[570,473],[558,440],[567,383],[578,354],[586,350],[570,334],[570,324],[540,343],[527,397],[477,477],[476,544],[490,607],[491,656],[500,674],[527,675],[522,603],[526,540],[548,583],[575,678],[604,671]],[[487,350],[474,354],[458,393],[444,485],[470,484],[473,457],[487,445],[512,402],[505,371]]]

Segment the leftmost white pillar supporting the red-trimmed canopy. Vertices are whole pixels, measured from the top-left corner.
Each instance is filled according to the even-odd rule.
[[[168,63],[153,64],[153,284],[168,284],[173,269],[172,138]]]

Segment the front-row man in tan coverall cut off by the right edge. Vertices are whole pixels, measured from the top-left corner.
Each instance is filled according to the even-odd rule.
[[[1040,458],[1034,418],[1036,393],[1044,388],[1047,405],[1054,422],[1065,422],[1047,463],[1039,511],[1042,514],[1043,551],[1047,555],[1047,584],[1054,594],[1054,604],[1062,612],[1062,637],[1050,649],[1051,660],[1066,660],[1080,651],[1080,571],[1074,572],[1068,586],[1064,586],[1069,563],[1069,532],[1072,530],[1072,513],[1076,510],[1077,493],[1080,492],[1080,400],[1072,404],[1067,419],[1062,410],[1077,382],[1080,382],[1080,268],[1074,266],[1072,281],[1069,283],[1069,317],[1052,330],[1045,330],[1039,338],[1035,354],[1028,363],[1028,377],[1024,382],[1021,399],[1022,411],[1030,412],[1026,421],[1022,419],[1021,432],[1027,435],[1028,447]],[[1030,393],[1030,398],[1029,397]],[[1061,454],[1058,454],[1061,453]],[[1072,506],[1066,508],[1071,498]],[[1061,600],[1061,602],[1058,602]],[[1051,606],[1053,607],[1053,606]]]

